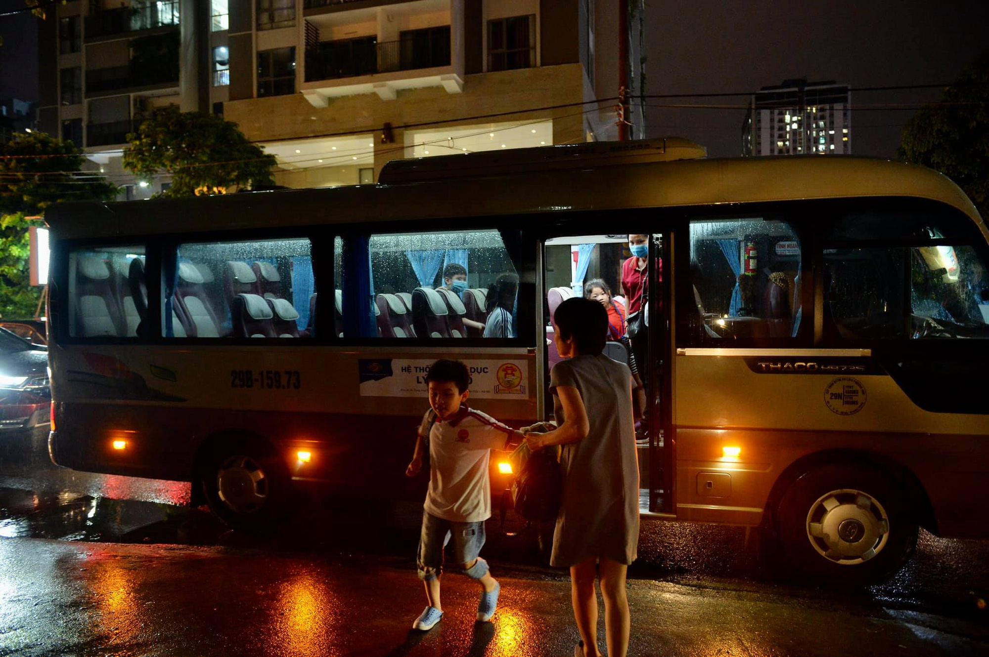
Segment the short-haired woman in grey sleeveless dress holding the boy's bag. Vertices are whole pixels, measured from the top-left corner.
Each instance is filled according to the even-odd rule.
[[[563,504],[550,563],[570,568],[578,657],[597,657],[599,575],[608,655],[628,651],[625,573],[639,541],[639,464],[632,410],[632,372],[601,352],[607,313],[600,303],[571,298],[556,310],[561,361],[550,372],[558,428],[529,433],[532,451],[563,446]]]

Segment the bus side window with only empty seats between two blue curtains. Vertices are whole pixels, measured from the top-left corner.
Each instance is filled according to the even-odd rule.
[[[166,338],[315,337],[308,239],[180,244],[162,269]]]

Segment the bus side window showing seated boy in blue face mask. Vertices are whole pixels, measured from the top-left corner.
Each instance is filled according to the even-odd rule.
[[[341,337],[517,335],[518,269],[497,230],[337,238],[334,252]],[[348,311],[357,314],[350,322]]]

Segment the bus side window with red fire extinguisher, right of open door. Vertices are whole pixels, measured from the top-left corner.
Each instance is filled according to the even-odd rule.
[[[785,221],[690,222],[690,283],[700,343],[795,338],[803,321],[801,247]]]

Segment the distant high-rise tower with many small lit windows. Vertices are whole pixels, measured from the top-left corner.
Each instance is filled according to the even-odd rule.
[[[742,154],[851,154],[851,99],[849,85],[834,80],[763,87],[742,125]]]

